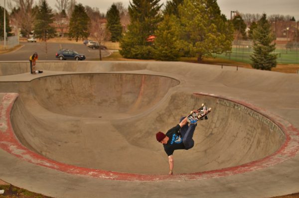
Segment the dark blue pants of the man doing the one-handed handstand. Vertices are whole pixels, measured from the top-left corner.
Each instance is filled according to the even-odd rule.
[[[181,122],[185,117],[182,117],[179,122]],[[194,146],[194,140],[192,139],[194,130],[197,124],[186,124],[181,129],[179,129],[182,138],[183,138],[183,144],[185,146],[185,149],[188,150]]]

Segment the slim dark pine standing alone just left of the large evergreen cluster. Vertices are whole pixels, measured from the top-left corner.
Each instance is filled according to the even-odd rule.
[[[112,4],[111,8],[107,11],[107,28],[111,33],[111,41],[117,42],[120,41],[122,36],[122,24],[120,18],[120,12],[116,6],[116,4]]]

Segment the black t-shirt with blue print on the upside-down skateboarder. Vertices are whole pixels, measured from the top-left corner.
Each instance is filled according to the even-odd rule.
[[[178,134],[179,129],[180,129],[180,125],[178,124],[175,127],[169,129],[166,133],[166,136],[169,137],[169,140],[167,144],[163,144],[163,146],[168,156],[172,155],[174,150],[185,149],[185,146],[183,144],[183,139]]]

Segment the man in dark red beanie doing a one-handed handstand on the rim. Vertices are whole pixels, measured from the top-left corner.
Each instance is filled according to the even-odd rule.
[[[197,110],[193,110],[198,112]],[[188,150],[194,146],[192,139],[197,124],[189,124],[187,117],[182,117],[179,124],[169,129],[166,134],[162,132],[156,133],[156,139],[163,144],[164,150],[168,156],[169,175],[173,174],[173,152],[177,149]]]

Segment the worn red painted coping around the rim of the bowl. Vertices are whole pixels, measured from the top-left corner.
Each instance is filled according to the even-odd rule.
[[[288,121],[282,119],[279,116],[273,115],[262,108],[258,108],[252,104],[244,101],[233,100],[221,96],[196,93],[194,95],[214,97],[229,100],[241,105],[244,105],[254,111],[259,112],[263,116],[272,120],[277,124],[285,133],[285,142],[281,148],[274,154],[267,156],[261,160],[253,161],[243,164],[241,166],[224,168],[221,170],[213,170],[207,172],[198,172],[190,174],[175,174],[168,175],[143,175],[132,173],[120,173],[114,171],[104,171],[90,168],[77,167],[73,165],[63,164],[54,160],[47,159],[46,157],[36,154],[25,146],[23,146],[16,138],[11,122],[10,112],[15,99],[18,94],[7,93],[4,95],[0,104],[0,149],[16,156],[21,160],[25,160],[29,163],[47,167],[53,170],[61,171],[64,173],[86,176],[91,178],[106,179],[106,180],[121,180],[121,181],[183,181],[183,180],[204,180],[211,178],[219,178],[225,176],[231,176],[239,173],[246,173],[266,167],[271,167],[276,164],[282,163],[288,159],[293,158],[299,152],[299,130],[295,128]]]

